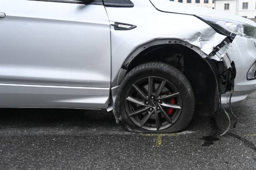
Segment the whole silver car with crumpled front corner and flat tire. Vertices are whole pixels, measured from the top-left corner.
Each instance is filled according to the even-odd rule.
[[[1,0],[0,107],[113,110],[133,132],[187,127],[256,90],[256,23],[168,0]]]

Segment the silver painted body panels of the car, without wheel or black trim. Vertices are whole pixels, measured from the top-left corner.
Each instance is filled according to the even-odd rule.
[[[132,0],[133,8],[28,0],[1,0],[0,107],[112,109],[128,66],[141,51],[180,43],[202,58],[226,36],[193,15],[256,23],[216,10],[168,0]],[[154,5],[152,5],[152,4]],[[182,14],[181,14],[182,13]],[[114,30],[114,22],[133,24]],[[125,25],[125,24],[124,24]],[[256,89],[246,73],[256,60],[256,40],[237,36],[209,58],[234,61],[232,102]],[[221,96],[225,104],[229,93]],[[109,105],[110,103],[110,105]]]

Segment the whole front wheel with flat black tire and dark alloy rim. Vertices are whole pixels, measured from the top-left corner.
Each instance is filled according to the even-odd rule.
[[[154,62],[138,65],[125,76],[113,112],[128,131],[174,133],[189,125],[194,107],[185,75],[169,64]]]

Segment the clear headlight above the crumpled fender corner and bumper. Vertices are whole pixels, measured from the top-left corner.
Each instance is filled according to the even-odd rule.
[[[205,22],[211,25],[213,28],[217,29],[219,33],[226,36],[235,37],[236,35],[256,38],[256,27],[245,23],[239,23],[233,20],[225,20],[219,18],[203,17],[200,16]]]

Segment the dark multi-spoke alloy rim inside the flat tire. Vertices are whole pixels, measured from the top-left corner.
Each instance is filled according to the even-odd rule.
[[[180,115],[181,106],[178,89],[161,77],[139,79],[131,85],[125,98],[125,109],[129,118],[147,130],[170,127]]]

